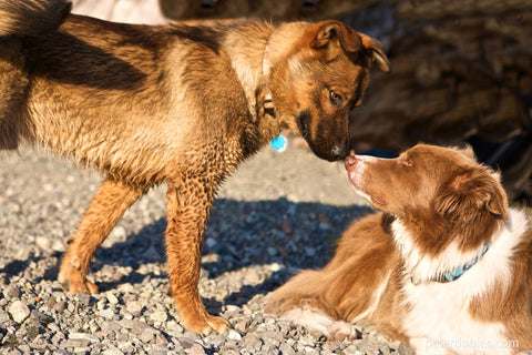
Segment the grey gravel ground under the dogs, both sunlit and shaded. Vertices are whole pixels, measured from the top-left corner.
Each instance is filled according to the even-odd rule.
[[[335,241],[370,212],[341,163],[308,151],[252,159],[219,192],[205,235],[200,292],[225,334],[186,332],[167,294],[164,186],[126,212],[91,264],[98,295],[55,281],[66,240],[101,178],[32,149],[0,153],[1,354],[409,354],[360,324],[335,342],[263,313],[264,296],[321,267]]]

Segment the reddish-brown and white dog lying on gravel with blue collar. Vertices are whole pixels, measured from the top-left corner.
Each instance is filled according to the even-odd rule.
[[[354,223],[321,271],[304,271],[267,310],[334,337],[365,320],[418,353],[532,348],[532,232],[499,174],[471,150],[417,145],[397,159],[348,156],[381,212]]]

